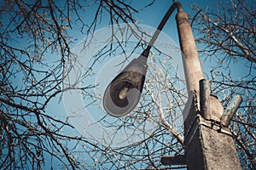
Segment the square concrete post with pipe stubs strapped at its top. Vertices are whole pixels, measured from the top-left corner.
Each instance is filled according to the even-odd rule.
[[[230,133],[230,118],[225,113],[234,114],[241,97],[237,96],[224,111],[219,100],[209,94],[208,81],[201,80],[200,95],[191,93],[189,113],[184,122],[185,162],[188,169],[241,169],[236,146]],[[231,115],[230,114],[230,115]]]

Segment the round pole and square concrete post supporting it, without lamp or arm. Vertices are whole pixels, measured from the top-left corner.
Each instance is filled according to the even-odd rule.
[[[230,133],[230,120],[241,104],[236,96],[224,111],[204,80],[188,15],[177,12],[177,30],[189,101],[183,111],[185,156],[163,156],[163,164],[186,164],[189,170],[241,169]]]

